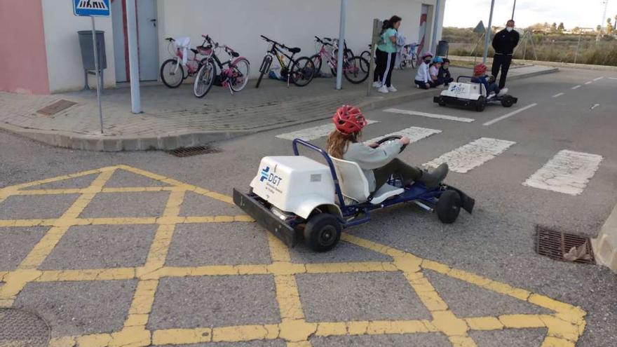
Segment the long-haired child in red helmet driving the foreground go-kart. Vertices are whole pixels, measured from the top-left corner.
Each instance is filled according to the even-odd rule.
[[[448,165],[445,163],[433,172],[426,172],[396,158],[401,147],[409,144],[408,137],[381,145],[360,142],[362,128],[367,122],[357,107],[350,105],[339,107],[332,117],[332,122],[336,129],[328,136],[328,154],[334,158],[358,163],[369,182],[371,193],[386,184],[391,175],[400,175],[405,185],[418,181],[428,188],[438,186],[447,175]]]

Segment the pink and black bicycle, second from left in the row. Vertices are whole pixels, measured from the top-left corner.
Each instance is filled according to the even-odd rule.
[[[218,42],[212,41],[210,36],[201,35],[208,42],[208,47],[212,50],[212,54],[203,64],[195,81],[193,83],[193,93],[196,97],[204,97],[210,91],[213,84],[222,87],[229,87],[229,92],[239,92],[243,90],[248,83],[250,74],[250,62],[245,57],[240,57],[240,54],[226,45],[219,45]],[[221,62],[217,56],[216,50],[222,48],[229,60]],[[236,58],[236,59],[233,59]],[[233,59],[233,61],[232,61]],[[224,68],[227,66],[226,68]],[[217,74],[217,67],[220,74]]]

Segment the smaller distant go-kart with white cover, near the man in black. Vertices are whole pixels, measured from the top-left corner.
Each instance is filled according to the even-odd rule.
[[[461,79],[469,79],[469,83],[460,82]],[[501,102],[503,107],[512,107],[518,101],[517,97],[506,93],[489,97],[487,88],[484,88],[482,83],[472,83],[471,79],[473,79],[471,76],[459,76],[456,83],[450,83],[439,96],[433,97],[433,102],[437,102],[440,106],[457,105],[484,111],[484,107],[489,103]]]

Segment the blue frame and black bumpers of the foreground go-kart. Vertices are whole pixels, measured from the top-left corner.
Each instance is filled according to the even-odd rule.
[[[458,216],[460,208],[463,208],[463,210],[466,210],[469,213],[473,211],[475,200],[467,196],[459,189],[454,188],[453,186],[448,186],[447,184],[440,184],[434,189],[428,189],[426,186],[424,186],[424,184],[420,182],[416,182],[411,186],[403,186],[402,180],[399,177],[394,176],[391,177],[391,179],[388,181],[388,184],[391,184],[392,186],[395,186],[397,188],[405,189],[405,191],[398,194],[397,196],[388,198],[379,204],[371,203],[370,197],[369,201],[365,203],[347,204],[345,203],[345,198],[341,191],[341,186],[339,185],[337,172],[334,169],[334,163],[332,163],[330,155],[328,155],[326,151],[324,151],[320,147],[315,146],[314,144],[311,144],[301,139],[295,139],[292,143],[295,156],[300,155],[298,150],[299,145],[321,154],[325,159],[328,167],[330,168],[330,174],[332,175],[332,180],[334,182],[334,191],[339,200],[338,205],[341,210],[341,215],[337,216],[337,219],[339,220],[339,223],[341,224],[343,229],[346,229],[350,226],[357,226],[359,224],[369,222],[369,220],[371,219],[370,212],[373,210],[381,210],[382,208],[397,205],[400,203],[414,202],[416,203],[416,205],[419,205],[423,209],[432,212],[435,206],[437,206],[439,209],[439,199],[442,194],[447,191],[456,192],[456,194],[449,193],[450,195],[455,196],[455,203],[458,204],[457,206],[454,206],[457,209],[454,219],[456,219],[456,216]],[[234,203],[236,203],[236,205],[238,205],[245,212],[247,212],[248,215],[250,215],[257,222],[259,222],[259,224],[262,224],[262,226],[264,226],[266,229],[269,229],[269,231],[274,233],[274,235],[283,240],[286,245],[293,247],[297,244],[299,240],[299,237],[296,233],[297,226],[306,223],[306,220],[301,219],[300,217],[290,220],[280,219],[280,217],[274,215],[273,212],[271,212],[271,210],[269,209],[270,204],[266,200],[260,198],[259,196],[257,196],[257,194],[252,192],[247,194],[241,193],[240,191],[233,189],[233,201]],[[448,206],[448,208],[452,209],[451,206]],[[454,220],[452,220],[451,222],[454,222]]]

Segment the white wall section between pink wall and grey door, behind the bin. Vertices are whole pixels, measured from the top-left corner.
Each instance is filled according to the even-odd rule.
[[[50,93],[79,90],[83,88],[83,64],[77,32],[92,29],[90,18],[76,17],[73,14],[71,1],[41,1]],[[116,86],[111,17],[96,18],[96,29],[105,32],[107,53],[107,69],[104,70],[105,86]],[[94,76],[90,76],[89,83],[91,88],[96,87]]]

